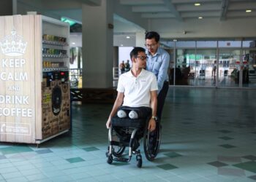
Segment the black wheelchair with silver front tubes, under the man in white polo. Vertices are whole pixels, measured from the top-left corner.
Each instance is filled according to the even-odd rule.
[[[106,152],[106,157],[108,157],[107,159],[108,164],[112,164],[113,161],[130,162],[132,159],[132,154],[135,154],[136,160],[137,160],[137,166],[142,167],[142,163],[143,163],[142,157],[140,154],[140,149],[138,149],[142,138],[143,138],[143,149],[144,149],[146,159],[148,159],[148,161],[153,161],[157,157],[160,143],[161,143],[162,127],[160,123],[156,121],[157,122],[156,129],[153,131],[154,135],[151,136],[152,132],[148,130],[148,121],[150,118],[151,116],[148,117],[147,119],[144,119],[144,122],[146,122],[146,124],[144,124],[144,126],[140,126],[140,124],[138,124],[138,127],[136,126],[129,127],[127,126],[127,124],[124,124],[124,126],[121,126],[121,125],[116,126],[111,124],[111,127],[108,130],[109,146],[108,146],[108,151]],[[135,119],[132,119],[132,121],[134,120]],[[126,123],[126,121],[124,121],[123,123]],[[155,140],[153,144],[154,146],[152,146],[152,144],[149,143],[149,141],[152,138],[153,140]],[[116,139],[118,140],[116,141]],[[129,147],[128,158],[125,158],[122,156],[126,147]]]

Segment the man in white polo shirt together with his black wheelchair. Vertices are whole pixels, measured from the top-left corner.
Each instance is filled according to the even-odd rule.
[[[121,74],[118,79],[117,98],[106,123],[110,141],[106,155],[108,163],[111,164],[113,160],[129,162],[132,153],[137,154],[138,167],[141,167],[140,150],[136,151],[139,146],[138,140],[144,137],[144,152],[148,160],[153,160],[159,149],[160,127],[157,126],[156,117],[157,78],[144,69],[147,56],[142,47],[135,47],[130,52],[130,58],[132,68],[127,73]],[[156,129],[158,143],[152,146],[149,133]],[[113,140],[113,133],[116,133],[119,142]],[[118,148],[117,151],[115,146]],[[129,146],[129,159],[121,158],[126,146]],[[112,155],[117,158],[113,159]]]

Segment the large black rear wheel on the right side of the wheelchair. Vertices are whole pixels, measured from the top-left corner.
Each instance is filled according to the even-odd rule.
[[[146,130],[143,144],[144,153],[148,161],[154,160],[157,157],[161,143],[161,125],[157,123],[156,130],[149,132]]]

